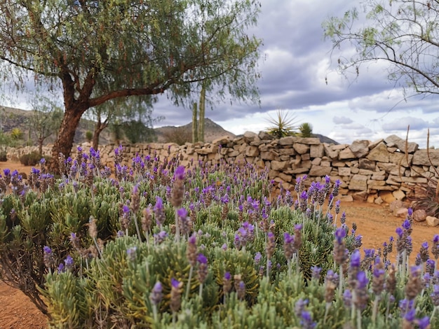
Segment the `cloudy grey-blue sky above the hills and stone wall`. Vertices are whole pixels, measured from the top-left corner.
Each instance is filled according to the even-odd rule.
[[[330,58],[331,43],[323,40],[323,20],[341,16],[356,1],[262,0],[262,13],[254,34],[262,38],[265,60],[260,64],[261,106],[217,104],[206,117],[234,134],[259,132],[276,110],[288,110],[298,123],[311,123],[313,132],[339,143],[356,139],[375,141],[396,134],[409,141],[439,147],[438,99],[411,97],[386,78],[384,63],[363,66],[360,76],[346,80],[335,72],[337,57]],[[327,84],[325,77],[327,76]],[[191,111],[175,111],[166,100],[156,104],[160,125],[185,125]],[[438,135],[438,137],[435,137]]]

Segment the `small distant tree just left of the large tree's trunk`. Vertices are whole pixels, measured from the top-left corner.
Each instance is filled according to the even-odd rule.
[[[29,117],[29,132],[36,135],[39,155],[43,155],[44,141],[55,134],[62,121],[62,110],[50,98],[36,94],[31,100],[32,116]]]

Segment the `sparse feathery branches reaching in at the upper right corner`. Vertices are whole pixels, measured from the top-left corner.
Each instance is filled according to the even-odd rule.
[[[358,76],[362,64],[384,61],[389,80],[417,94],[439,94],[439,2],[367,0],[364,10],[366,25],[358,24],[356,8],[323,22],[333,51],[343,45],[356,50],[353,57],[339,57],[339,70]]]

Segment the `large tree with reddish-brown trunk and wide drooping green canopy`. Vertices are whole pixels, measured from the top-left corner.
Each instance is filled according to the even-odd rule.
[[[259,6],[257,0],[4,0],[0,59],[8,66],[1,73],[17,77],[19,87],[30,73],[36,83],[62,89],[57,159],[69,155],[83,113],[110,99],[167,92],[186,104],[209,80],[221,100],[257,100],[261,41],[246,29],[256,24]]]

